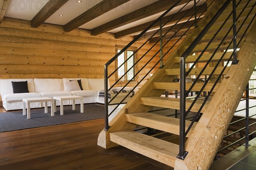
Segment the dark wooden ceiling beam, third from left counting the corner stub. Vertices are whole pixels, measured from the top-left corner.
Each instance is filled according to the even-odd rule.
[[[96,6],[93,6],[92,8],[88,9],[86,12],[82,13],[78,17],[74,18],[70,22],[68,22],[64,26],[64,31],[70,32],[73,29],[76,29],[79,26],[84,25],[85,23],[89,22],[90,20],[95,19],[96,17],[99,17],[102,14],[105,14],[106,12],[116,8],[117,6],[120,6],[129,0],[103,0],[100,3],[98,3]]]

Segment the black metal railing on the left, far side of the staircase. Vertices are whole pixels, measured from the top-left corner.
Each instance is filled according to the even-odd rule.
[[[192,1],[189,1],[189,0],[188,0],[188,2],[187,2],[186,4],[180,4],[180,3],[181,3],[181,0],[175,1],[175,3],[174,3],[166,12],[164,12],[164,13],[163,13],[157,20],[155,20],[153,23],[151,23],[150,26],[148,26],[143,32],[141,32],[137,37],[135,37],[134,40],[132,40],[130,43],[128,43],[127,46],[125,46],[122,50],[120,50],[120,52],[118,52],[113,58],[111,58],[110,61],[108,61],[108,62],[105,64],[105,66],[104,66],[104,78],[105,78],[105,82],[104,82],[104,83],[105,83],[105,92],[104,92],[104,95],[105,95],[105,131],[107,131],[107,130],[110,128],[109,125],[108,125],[108,123],[109,123],[109,122],[108,122],[108,117],[109,117],[113,112],[115,112],[116,109],[118,109],[118,107],[119,107],[121,104],[124,103],[124,101],[125,101],[125,99],[126,99],[127,97],[131,96],[131,94],[132,94],[133,91],[137,88],[137,86],[139,86],[143,81],[145,81],[145,79],[147,78],[148,74],[149,74],[150,72],[152,72],[152,70],[155,69],[157,65],[160,64],[160,68],[163,68],[163,58],[170,52],[170,50],[172,50],[172,49],[174,48],[174,46],[179,42],[179,40],[181,40],[182,38],[186,37],[186,33],[189,31],[189,29],[193,28],[194,25],[197,24],[195,19],[200,18],[200,17],[204,14],[204,12],[207,11],[207,9],[209,8],[209,6],[212,5],[212,3],[207,4],[207,2],[208,2],[208,0],[206,0],[206,1],[197,1],[197,2],[195,2],[195,1],[192,2]],[[212,1],[212,2],[213,2],[213,1]],[[190,7],[191,7],[191,4],[192,4],[192,6],[193,6],[192,8],[190,8]],[[178,10],[178,12],[176,12],[175,14],[173,14],[173,17],[169,18],[165,23],[163,23],[163,22],[162,22],[162,21],[163,21],[162,19],[163,19],[165,16],[167,16],[167,14],[168,14],[172,9],[174,9],[176,6],[178,6],[178,5],[183,5],[183,6]],[[189,7],[189,6],[190,6],[190,7]],[[197,6],[197,8],[196,8],[196,9],[193,9],[195,6]],[[166,25],[169,23],[169,21],[172,20],[173,18],[175,18],[175,17],[177,18],[177,14],[178,14],[179,12],[183,11],[185,8],[190,8],[190,9],[187,10],[187,12],[185,12],[185,13],[183,14],[183,16],[179,16],[180,19],[177,20],[177,21],[175,22],[175,24],[172,25],[172,26],[170,27],[170,29],[167,30],[167,31],[165,31],[165,34],[162,35],[162,29],[163,29],[163,27],[166,26]],[[193,14],[193,15],[188,19],[188,21],[194,20],[194,22],[192,22],[191,25],[190,25],[188,28],[186,28],[185,30],[184,30],[184,26],[185,26],[186,22],[183,23],[183,25],[180,26],[180,28],[177,29],[177,30],[173,33],[173,35],[168,38],[168,40],[166,41],[166,43],[163,44],[163,41],[162,41],[163,37],[165,37],[170,31],[172,31],[172,29],[175,28],[175,26],[182,20],[182,18],[183,18],[184,16],[186,16],[186,15],[187,15],[189,12],[191,12],[192,10],[195,11],[195,14]],[[197,16],[197,13],[199,13],[200,15]],[[195,18],[193,18],[193,17],[195,17]],[[127,50],[129,47],[133,46],[133,44],[136,43],[137,40],[140,40],[140,38],[143,37],[143,35],[144,35],[148,30],[150,30],[151,28],[154,28],[157,23],[160,23],[159,29],[157,29],[156,32],[155,32],[153,35],[151,35],[151,37],[148,38],[148,40],[145,40],[145,42],[144,42],[137,50],[135,50],[135,51],[133,52],[133,54],[132,54],[130,57],[128,57],[121,65],[119,65],[116,69],[114,69],[113,72],[109,73],[110,70],[108,69],[108,66],[109,66],[111,63],[115,62],[115,61],[117,60],[117,58],[118,58],[123,52],[125,52],[125,50]],[[180,34],[180,30],[181,30],[181,29],[182,29],[182,34]],[[124,74],[121,75],[121,76],[116,80],[116,82],[113,83],[113,85],[110,86],[110,85],[108,84],[109,79],[110,79],[112,76],[115,77],[115,74],[117,74],[118,70],[119,70],[122,66],[124,66],[125,63],[127,63],[128,60],[129,60],[131,57],[134,57],[135,55],[137,55],[138,52],[142,49],[142,47],[145,46],[145,44],[148,44],[148,42],[151,40],[151,38],[155,37],[155,36],[157,35],[157,33],[160,33],[160,35],[159,35],[160,38],[157,40],[157,42],[155,42],[146,52],[144,52],[144,54],[142,55],[142,57],[140,57],[140,58],[133,64],[133,66],[131,66],[129,69],[125,70]],[[174,41],[174,43],[172,44],[172,46],[169,47],[169,49],[165,52],[165,54],[163,54],[163,48],[166,47],[167,44],[170,42],[170,40],[173,40],[174,37],[179,37],[179,38],[177,38],[177,40]],[[157,46],[159,43],[160,43],[160,46]],[[109,99],[109,98],[108,98],[108,92],[109,92],[111,89],[113,89],[113,87],[115,87],[115,86],[118,84],[119,81],[122,81],[122,79],[125,78],[125,76],[127,76],[128,72],[129,72],[131,69],[134,69],[134,68],[138,65],[138,63],[142,60],[142,58],[144,58],[144,57],[148,54],[148,52],[150,52],[153,48],[157,48],[157,49],[158,49],[157,52],[155,52],[155,54],[144,64],[144,66],[141,66],[141,69],[140,69],[140,70],[136,71],[136,73],[135,73],[134,76],[131,78],[131,80],[127,81],[127,82],[121,87],[121,89],[119,90],[119,92],[117,92],[116,95],[113,96],[113,98]],[[159,54],[160,59],[159,59],[153,66],[151,66],[151,68],[150,68],[147,72],[145,72],[145,75],[141,78],[141,80],[140,80],[140,81],[138,80],[137,84],[134,85],[134,80],[137,78],[138,75],[140,75],[141,72],[143,72],[143,69],[148,65],[148,63],[150,63],[150,62],[157,56],[157,54]],[[113,77],[112,77],[112,78],[113,78]],[[125,97],[123,97],[123,99],[122,99],[119,103],[115,104],[115,107],[109,112],[108,106],[111,104],[111,102],[114,100],[114,98],[116,98],[116,96],[119,95],[119,93],[120,93],[123,89],[125,89],[125,87],[127,87],[129,84],[133,84],[133,85],[132,85],[133,87],[131,88],[131,91],[128,92],[127,95],[126,95]]]

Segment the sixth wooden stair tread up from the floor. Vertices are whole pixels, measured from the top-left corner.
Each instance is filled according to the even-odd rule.
[[[231,54],[233,52],[226,52],[226,54],[224,55],[224,58],[223,58],[223,61],[227,61]],[[224,54],[224,52],[217,52],[214,57],[212,58],[212,61],[218,61],[221,56]],[[195,60],[198,58],[199,55],[189,55],[187,58],[186,58],[186,63],[194,63]],[[200,59],[199,59],[199,62],[207,62],[209,61],[209,58],[212,56],[212,54],[204,54]],[[180,63],[180,57],[175,57],[174,58],[174,62],[175,63]]]

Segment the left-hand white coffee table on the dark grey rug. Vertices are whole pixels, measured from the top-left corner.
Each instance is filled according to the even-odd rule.
[[[26,115],[26,109],[27,109],[27,118],[30,118],[30,104],[31,103],[38,103],[38,102],[44,102],[44,112],[48,112],[47,108],[47,102],[51,103],[51,116],[54,116],[54,100],[53,98],[23,98],[23,115]]]

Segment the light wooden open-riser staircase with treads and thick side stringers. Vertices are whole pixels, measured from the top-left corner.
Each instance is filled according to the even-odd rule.
[[[186,135],[185,150],[188,152],[186,158],[181,160],[177,158],[179,154],[179,145],[163,141],[158,138],[151,137],[135,132],[134,129],[137,125],[151,127],[153,129],[161,130],[167,133],[180,134],[180,119],[173,117],[166,117],[163,115],[157,115],[149,113],[148,111],[152,107],[164,107],[169,109],[180,109],[179,98],[166,98],[160,97],[166,89],[179,90],[180,83],[172,82],[177,75],[180,75],[179,62],[180,55],[188,48],[190,43],[195,39],[198,33],[209,22],[212,16],[221,8],[225,0],[217,0],[207,14],[200,20],[198,27],[192,29],[187,34],[185,40],[175,49],[174,52],[166,59],[163,69],[158,69],[157,72],[140,88],[140,90],[131,98],[131,100],[125,105],[125,107],[118,112],[118,114],[109,123],[110,128],[99,134],[98,145],[104,148],[110,148],[116,146],[116,144],[127,147],[130,150],[134,150],[144,156],[148,156],[154,160],[167,164],[175,169],[193,169],[193,170],[205,170],[209,169],[210,164],[215,157],[217,149],[224,136],[224,132],[233,117],[236,107],[239,104],[242,93],[246,87],[246,84],[253,72],[256,65],[256,23],[255,19],[251,24],[246,35],[243,38],[244,42],[239,45],[239,52],[237,54],[239,63],[237,65],[231,65],[224,71],[225,77],[219,82],[213,89],[212,98],[207,101],[203,109],[201,109],[202,116],[198,122],[195,122],[189,132]],[[238,1],[237,1],[238,2]],[[243,6],[247,3],[247,0],[241,0],[237,12],[241,11]],[[247,4],[245,12],[249,12],[250,8],[256,1],[251,0]],[[221,17],[217,19],[217,23],[223,23],[227,14],[232,11],[232,3],[221,14]],[[255,14],[255,9],[250,15]],[[246,13],[241,15],[244,18]],[[230,26],[233,22],[228,21]],[[237,27],[239,28],[242,23],[242,19],[238,20]],[[248,22],[246,22],[248,23]],[[205,41],[212,36],[212,32],[216,32],[218,27],[212,26],[203,38]],[[244,30],[244,29],[241,29]],[[250,32],[249,32],[250,31]],[[237,35],[238,41],[240,40],[243,31]],[[223,32],[221,32],[223,35]],[[226,49],[230,39],[226,39],[221,49]],[[213,51],[219,42],[213,42],[209,46],[209,54],[204,54],[198,62],[206,62],[211,57],[211,51]],[[206,42],[202,41],[198,44],[192,52],[202,52]],[[212,61],[218,61],[224,52],[217,52]],[[227,61],[230,58],[232,52],[227,52],[223,58],[223,61]],[[198,55],[189,55],[186,59],[187,63],[193,63],[197,59]],[[219,75],[224,66],[219,66],[214,75]],[[203,68],[193,68],[190,75],[198,75]],[[204,70],[203,75],[210,75],[214,69],[214,63],[212,66],[207,67]],[[188,70],[188,69],[187,69]],[[192,90],[200,91],[204,83],[197,83]],[[208,83],[203,91],[209,92],[213,87],[214,81]],[[186,83],[186,90],[192,83]],[[186,109],[190,107],[193,100],[186,99]],[[193,105],[191,112],[198,112],[203,101],[196,101]],[[189,127],[191,121],[186,121],[185,129]],[[104,141],[104,142],[102,142]],[[185,142],[185,141],[184,141]]]

